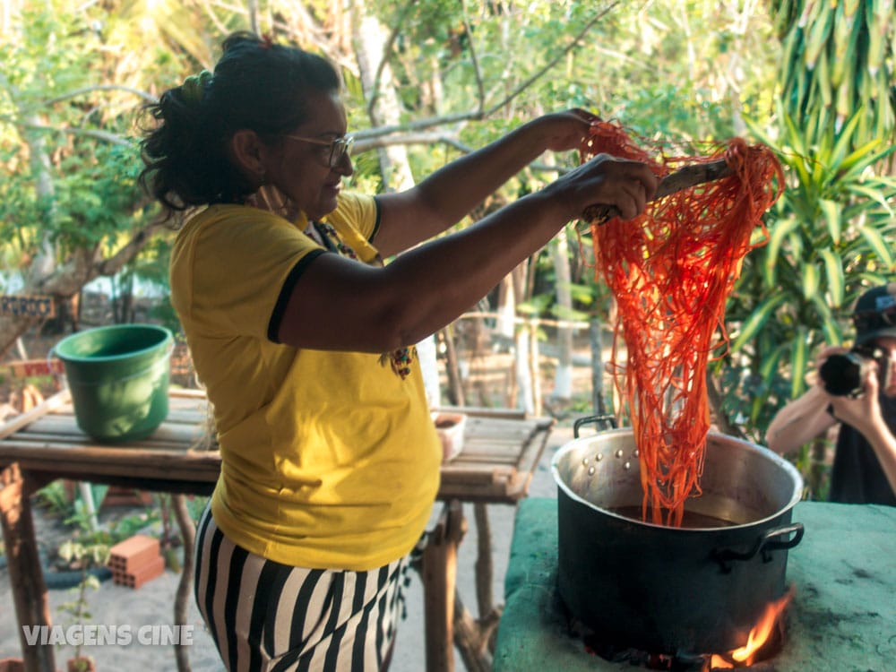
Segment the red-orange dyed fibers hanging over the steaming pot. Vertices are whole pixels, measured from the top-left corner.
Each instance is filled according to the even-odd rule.
[[[706,366],[728,346],[726,301],[745,254],[767,242],[762,214],[780,196],[783,172],[771,150],[740,138],[712,156],[651,159],[603,121],[592,125],[582,160],[599,152],[647,161],[659,177],[722,158],[733,171],[650,202],[636,220],[591,223],[596,275],[616,297],[614,361],[625,340],[626,362],[613,372],[639,451],[643,518],[679,526],[685,500],[701,494]]]

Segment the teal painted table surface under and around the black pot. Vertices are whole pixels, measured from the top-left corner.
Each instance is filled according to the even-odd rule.
[[[754,670],[896,670],[896,508],[803,502],[793,520],[806,535],[788,554],[796,597],[787,640]],[[588,653],[568,632],[556,593],[556,530],[555,499],[520,503],[493,672],[633,672],[638,668],[628,662]]]

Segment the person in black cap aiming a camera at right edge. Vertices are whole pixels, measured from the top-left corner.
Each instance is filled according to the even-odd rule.
[[[785,454],[839,423],[828,499],[896,506],[896,283],[867,290],[852,321],[853,348],[823,349],[817,383],[780,409],[766,443]]]

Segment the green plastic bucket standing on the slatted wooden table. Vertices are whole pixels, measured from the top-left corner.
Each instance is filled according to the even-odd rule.
[[[98,441],[150,435],[168,417],[174,338],[154,324],[116,324],[56,343],[72,392],[74,417]]]

